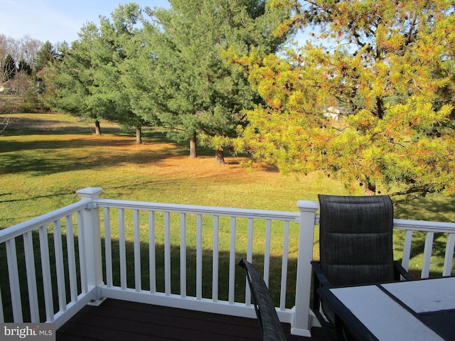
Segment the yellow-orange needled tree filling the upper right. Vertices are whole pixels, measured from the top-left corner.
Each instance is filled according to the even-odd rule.
[[[286,56],[245,65],[265,104],[235,141],[284,172],[323,171],[351,188],[455,191],[455,6],[446,0],[270,1],[281,28],[316,33]]]

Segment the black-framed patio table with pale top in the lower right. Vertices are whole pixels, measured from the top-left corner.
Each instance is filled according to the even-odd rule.
[[[338,337],[347,330],[357,340],[455,340],[455,277],[319,293],[333,308]]]

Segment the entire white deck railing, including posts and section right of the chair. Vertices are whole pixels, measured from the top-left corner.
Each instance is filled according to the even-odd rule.
[[[80,202],[0,231],[6,257],[0,322],[45,321],[59,328],[103,297],[254,318],[245,274],[236,266],[246,258],[262,269],[280,320],[294,335],[311,335],[317,202],[299,201],[299,212],[279,212],[107,200],[101,192],[79,190]],[[394,225],[405,231],[405,269],[422,240],[416,234],[423,233],[420,276],[430,274],[435,235],[445,246],[441,276],[452,274],[454,223]]]

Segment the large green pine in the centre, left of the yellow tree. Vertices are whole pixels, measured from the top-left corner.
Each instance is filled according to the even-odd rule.
[[[228,58],[253,49],[274,53],[284,37],[271,33],[290,12],[258,0],[173,0],[171,5],[151,12],[154,25],[145,26],[149,113],[190,140],[191,157],[197,156],[200,134],[223,163],[223,146],[246,123],[242,109],[260,100],[245,70]]]

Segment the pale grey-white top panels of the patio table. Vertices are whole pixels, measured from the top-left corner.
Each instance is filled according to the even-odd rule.
[[[402,281],[382,287],[412,310],[415,308],[416,313],[455,309],[455,278]],[[443,340],[378,286],[330,291],[379,340]]]

